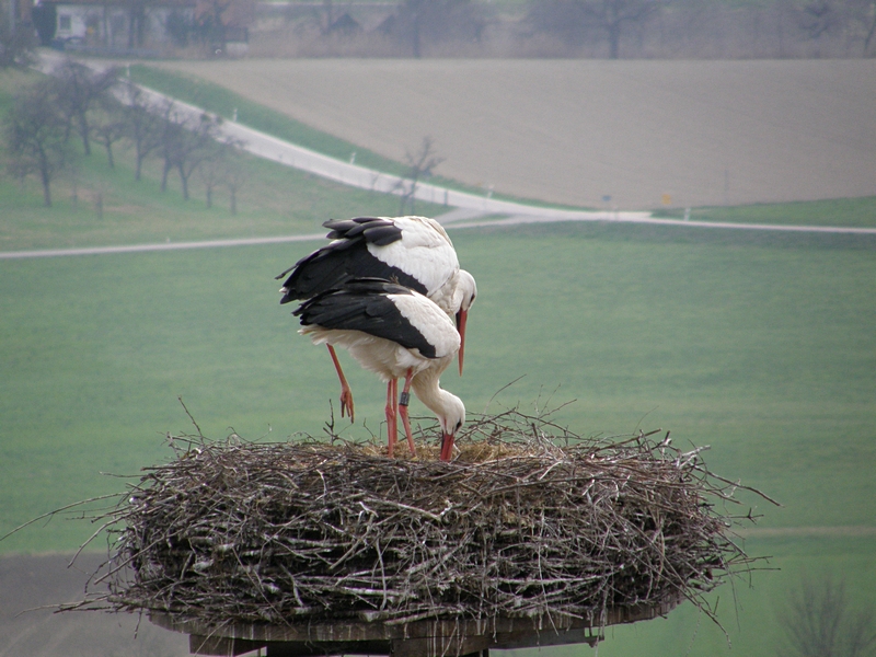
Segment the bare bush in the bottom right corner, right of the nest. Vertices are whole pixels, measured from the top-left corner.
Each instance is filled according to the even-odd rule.
[[[804,579],[780,613],[786,657],[872,657],[876,614],[872,606],[851,608],[842,581]]]

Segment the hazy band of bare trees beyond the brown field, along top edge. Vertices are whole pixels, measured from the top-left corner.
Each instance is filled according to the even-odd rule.
[[[268,5],[260,11],[276,12]],[[365,36],[353,18],[355,7],[334,0],[291,3],[286,15],[298,16],[301,30],[319,25],[323,37],[343,42]],[[714,57],[704,44],[724,42],[733,57],[838,56],[840,43],[844,57],[872,57],[876,0],[399,0],[373,33],[413,57],[436,46],[434,51],[447,55],[440,44],[484,44],[497,35],[506,43],[497,53],[511,57],[539,47],[554,48],[543,51],[549,56],[696,58],[700,51]],[[550,39],[556,45],[546,46]],[[763,54],[752,53],[752,43]],[[556,50],[561,44],[565,49]],[[832,55],[815,54],[822,48]]]

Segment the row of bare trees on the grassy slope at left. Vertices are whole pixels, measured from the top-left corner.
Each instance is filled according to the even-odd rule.
[[[228,189],[232,214],[237,193],[244,183],[239,143],[219,135],[221,118],[208,114],[192,117],[178,112],[172,101],[159,105],[118,70],[94,72],[66,60],[53,76],[16,94],[3,122],[8,171],[24,182],[35,175],[43,186],[46,207],[51,206],[51,183],[74,169],[80,157],[74,138],[81,141],[81,157],[91,157],[92,146],[106,151],[115,166],[114,149],[124,145],[135,155],[135,178],[140,180],[147,158],[162,163],[161,191],[168,177],[180,177],[183,198],[189,198],[193,174],[199,173],[212,204],[212,192]]]

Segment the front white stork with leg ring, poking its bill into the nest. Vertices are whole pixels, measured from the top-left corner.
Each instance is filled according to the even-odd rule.
[[[449,461],[453,438],[465,422],[465,406],[442,390],[438,377],[453,360],[460,336],[453,322],[427,297],[379,278],[349,280],[304,301],[292,313],[302,335],[314,345],[337,345],[387,382],[389,454],[402,418],[411,453],[414,438],[407,415],[410,391],[430,408],[441,425],[441,460]],[[399,379],[404,377],[401,401]]]

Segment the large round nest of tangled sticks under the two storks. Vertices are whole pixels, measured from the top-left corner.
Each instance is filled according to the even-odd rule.
[[[731,540],[736,486],[668,435],[581,439],[512,410],[475,418],[445,463],[427,447],[437,427],[418,430],[416,459],[330,434],[174,439],[176,458],[102,517],[118,534],[102,600],[209,625],[545,613],[598,624],[611,607],[702,608],[753,561]]]

